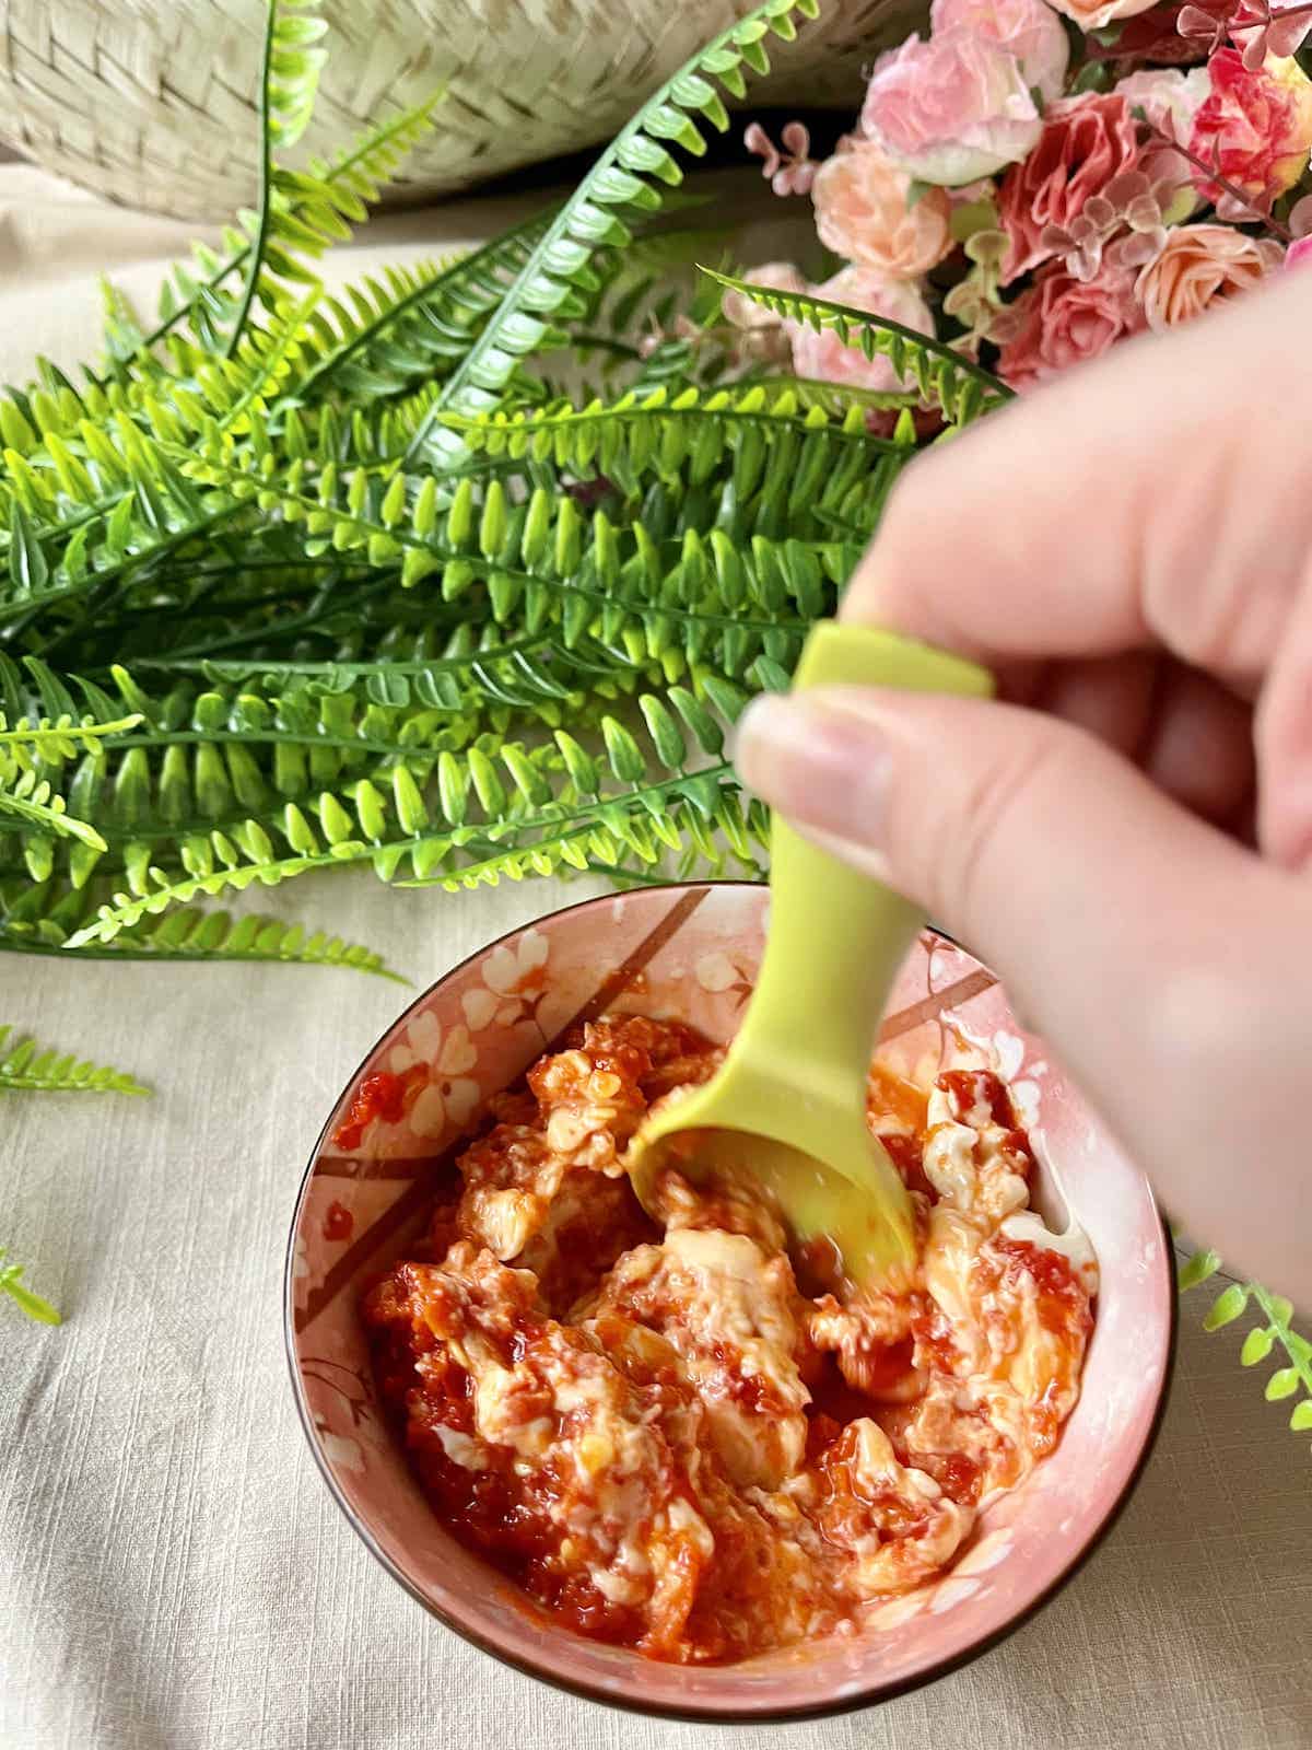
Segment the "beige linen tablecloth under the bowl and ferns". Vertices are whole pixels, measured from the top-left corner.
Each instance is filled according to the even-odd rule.
[[[437,250],[509,210],[388,220],[378,247]],[[89,350],[94,270],[136,262],[115,278],[142,294],[184,240],[0,172],[3,378],[37,350]],[[560,898],[343,877],[262,903],[423,984]],[[920,1694],[815,1726],[673,1726],[556,1694],[429,1620],[331,1503],[280,1323],[308,1150],[404,1001],[350,973],[0,957],[0,1020],[159,1090],[0,1106],[0,1239],[68,1314],[38,1330],[0,1306],[3,1750],[1312,1746],[1312,1454],[1239,1368],[1239,1337],[1202,1335],[1198,1297],[1109,1542],[1013,1640]]]

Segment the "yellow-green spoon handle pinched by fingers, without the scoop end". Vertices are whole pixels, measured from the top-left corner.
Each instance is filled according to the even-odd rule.
[[[833,684],[976,698],[994,691],[992,677],[960,656],[822,620],[806,639],[792,690]],[[770,849],[770,934],[733,1055],[757,1069],[777,1066],[782,1087],[798,1085],[805,1062],[817,1096],[843,1106],[861,1090],[864,1108],[875,1032],[924,914],[778,817]]]

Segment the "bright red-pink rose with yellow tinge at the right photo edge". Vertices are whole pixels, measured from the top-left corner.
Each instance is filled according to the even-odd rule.
[[[1228,194],[1200,170],[1193,180],[1221,219],[1251,219],[1291,189],[1312,150],[1312,84],[1298,61],[1267,60],[1256,72],[1239,49],[1218,49],[1209,63],[1212,89],[1193,119],[1190,150],[1212,164],[1253,203]]]

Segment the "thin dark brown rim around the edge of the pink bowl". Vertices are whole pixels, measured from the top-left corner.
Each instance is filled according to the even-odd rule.
[[[700,880],[700,882],[659,882],[659,884],[654,882],[651,886],[644,886],[642,892],[680,894],[680,892],[696,892],[705,887],[766,889],[768,884],[750,882],[750,880]],[[502,931],[500,936],[493,936],[490,942],[481,943],[462,961],[457,961],[455,966],[448,966],[444,973],[441,973],[429,985],[425,985],[423,990],[418,992],[413,1003],[409,1003],[392,1022],[388,1022],[388,1026],[383,1029],[378,1040],[374,1040],[374,1043],[364,1054],[364,1057],[355,1066],[352,1074],[346,1078],[343,1092],[353,1087],[360,1080],[360,1074],[369,1064],[369,1059],[374,1055],[374,1052],[387,1038],[387,1034],[390,1034],[395,1027],[402,1026],[420,1008],[420,1004],[423,1004],[432,996],[432,992],[439,985],[444,985],[448,980],[458,976],[462,971],[465,971],[469,966],[479,961],[485,954],[490,954],[493,948],[499,948],[504,943],[513,942],[527,929],[534,929],[539,924],[551,922],[572,912],[586,912],[598,905],[612,905],[616,898],[618,898],[616,892],[602,892],[602,894],[593,894],[588,900],[576,900],[570,905],[562,905],[553,912],[544,912],[537,919],[530,919],[527,922],[516,924],[513,929]],[[939,929],[936,924],[927,924],[925,928],[931,929],[936,936],[941,936],[945,942],[953,943],[953,947],[962,947],[966,954],[971,954],[971,950],[966,948],[964,943],[957,943],[955,936],[950,936],[945,929]],[[981,961],[980,964],[983,966],[985,962]],[[310,1412],[310,1404],[306,1400],[304,1384],[301,1379],[301,1368],[296,1358],[294,1265],[296,1265],[296,1241],[301,1230],[301,1213],[304,1208],[306,1192],[315,1174],[315,1166],[318,1162],[320,1150],[327,1138],[329,1124],[332,1122],[332,1115],[339,1104],[341,1104],[341,1096],[338,1096],[338,1099],[329,1108],[329,1113],[310,1150],[310,1158],[306,1162],[304,1172],[301,1174],[301,1185],[297,1186],[296,1192],[296,1202],[292,1206],[292,1223],[287,1234],[287,1248],[283,1255],[283,1351],[287,1358],[287,1370],[290,1374],[292,1396],[296,1400],[296,1412],[301,1421],[301,1430],[310,1446],[315,1466],[318,1468],[320,1477],[327,1484],[332,1500],[336,1502],[338,1508],[345,1516],[350,1528],[355,1531],[364,1547],[374,1558],[374,1561],[378,1561],[380,1566],[406,1592],[409,1592],[409,1596],[418,1605],[422,1605],[422,1608],[430,1617],[436,1617],[436,1620],[441,1622],[443,1628],[450,1629],[453,1634],[458,1634],[460,1640],[464,1640],[467,1645],[476,1647],[481,1654],[486,1654],[488,1657],[499,1661],[500,1664],[507,1664],[513,1670],[521,1671],[525,1676],[537,1678],[537,1682],[548,1684],[551,1689],[562,1690],[563,1694],[577,1696],[581,1701],[600,1703],[602,1706],[612,1708],[618,1713],[642,1713],[647,1715],[649,1718],[679,1720],[689,1726],[787,1726],[801,1720],[836,1718],[843,1713],[855,1713],[861,1708],[878,1706],[883,1701],[894,1701],[897,1696],[911,1694],[917,1689],[927,1689],[931,1684],[938,1684],[941,1678],[950,1676],[953,1671],[960,1671],[964,1666],[973,1664],[976,1659],[983,1657],[983,1654],[992,1652],[994,1647],[1001,1647],[1002,1642],[1009,1640],[1016,1633],[1016,1629],[1023,1628],[1029,1620],[1032,1620],[1032,1617],[1036,1617],[1060,1591],[1064,1591],[1064,1587],[1076,1577],[1076,1573],[1079,1573],[1079,1570],[1097,1554],[1097,1550],[1106,1542],[1107,1535],[1120,1521],[1121,1514],[1125,1512],[1130,1502],[1130,1496],[1139,1486],[1139,1480],[1148,1466],[1149,1458],[1153,1456],[1153,1451],[1156,1449],[1158,1435],[1162,1433],[1162,1423],[1165,1419],[1167,1407],[1170,1402],[1170,1393],[1176,1382],[1176,1360],[1177,1360],[1177,1342],[1179,1342],[1179,1264],[1176,1258],[1176,1246],[1170,1232],[1170,1223],[1167,1222],[1165,1214],[1162,1214],[1160,1208],[1158,1208],[1158,1220],[1162,1222],[1162,1236],[1165,1242],[1163,1253],[1167,1258],[1167,1274],[1170,1278],[1170,1295],[1167,1302],[1169,1306],[1167,1354],[1165,1354],[1165,1367],[1162,1370],[1162,1390],[1158,1391],[1153,1419],[1148,1426],[1148,1433],[1144,1435],[1142,1446],[1139,1447],[1139,1454],[1135,1456],[1135,1461],[1125,1479],[1125,1484],[1121,1486],[1121,1491],[1118,1493],[1111,1508],[1106,1512],[1099,1526],[1085,1538],[1079,1549],[1072,1554],[1065,1568],[1062,1568],[1062,1572],[1041,1592],[1037,1592],[1029,1601],[1029,1605],[1025,1605],[1023,1610],[1018,1610],[1015,1617],[1011,1617],[994,1633],[981,1634],[978,1640],[960,1648],[960,1652],[953,1652],[950,1657],[938,1661],[938,1664],[932,1664],[925,1671],[918,1671],[913,1676],[896,1678],[883,1684],[875,1680],[857,1694],[841,1696],[834,1701],[799,1703],[796,1708],[778,1708],[770,1704],[752,1706],[750,1703],[728,1710],[696,1708],[696,1706],[686,1708],[675,1703],[646,1701],[637,1698],[616,1696],[593,1684],[583,1684],[576,1682],[574,1678],[562,1676],[562,1673],[555,1670],[549,1661],[539,1661],[527,1654],[513,1654],[506,1652],[500,1647],[493,1647],[483,1634],[478,1633],[478,1629],[469,1628],[465,1622],[458,1622],[446,1610],[441,1610],[437,1605],[434,1605],[432,1600],[427,1598],[418,1589],[418,1586],[415,1586],[411,1578],[397,1566],[397,1563],[381,1549],[369,1526],[346,1500],[345,1493],[341,1491],[341,1486],[338,1484],[336,1475],[332,1474],[332,1468],[324,1458],[324,1447],[318,1438],[318,1432],[313,1424],[313,1416]],[[1149,1194],[1151,1194],[1151,1185],[1149,1185]],[[1153,1200],[1156,1204],[1156,1199]],[[551,1638],[553,1638],[551,1634],[544,1636],[544,1640],[548,1642],[551,1642]]]

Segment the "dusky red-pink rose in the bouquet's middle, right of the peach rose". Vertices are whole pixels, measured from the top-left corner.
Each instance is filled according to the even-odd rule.
[[[999,222],[1011,238],[1002,282],[1048,261],[1055,250],[1043,242],[1044,231],[1069,231],[1085,201],[1134,170],[1137,159],[1139,131],[1125,98],[1086,93],[1050,105],[1043,138],[999,191]]]

